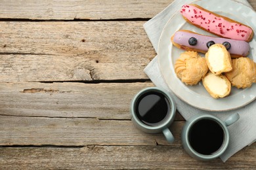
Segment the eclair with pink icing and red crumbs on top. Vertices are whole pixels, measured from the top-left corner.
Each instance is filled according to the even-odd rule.
[[[181,14],[190,24],[215,35],[247,42],[251,41],[253,38],[253,30],[251,27],[225,16],[215,14],[198,5],[183,5]]]

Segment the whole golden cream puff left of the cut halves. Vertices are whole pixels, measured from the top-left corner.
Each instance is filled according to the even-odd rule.
[[[205,58],[198,52],[183,52],[175,63],[175,73],[187,85],[198,84],[207,71]]]

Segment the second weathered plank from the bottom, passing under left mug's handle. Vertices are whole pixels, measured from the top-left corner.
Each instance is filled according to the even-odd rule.
[[[179,133],[184,121],[174,122],[171,131],[181,144]],[[151,145],[168,144],[163,134],[148,134],[131,120],[96,118],[36,118],[0,116],[0,145]]]

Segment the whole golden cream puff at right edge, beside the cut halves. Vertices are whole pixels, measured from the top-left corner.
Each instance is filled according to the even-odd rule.
[[[249,58],[232,59],[233,70],[225,73],[232,86],[249,88],[256,82],[256,63]]]

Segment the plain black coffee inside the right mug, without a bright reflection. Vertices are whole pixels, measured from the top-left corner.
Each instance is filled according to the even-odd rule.
[[[199,120],[189,131],[189,143],[200,154],[213,154],[221,148],[223,141],[223,128],[214,120]]]

